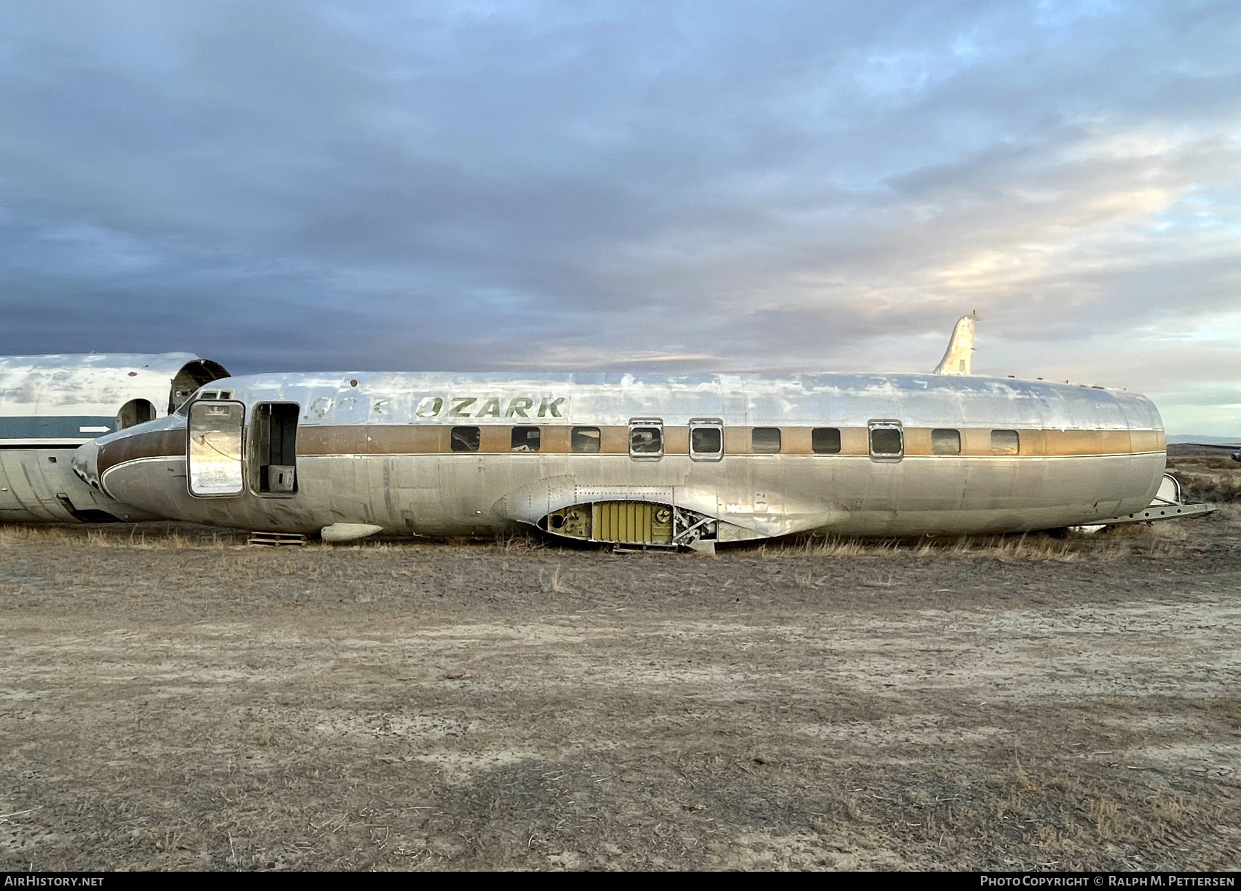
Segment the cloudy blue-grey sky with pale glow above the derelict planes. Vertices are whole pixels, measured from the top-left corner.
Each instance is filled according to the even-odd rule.
[[[930,370],[1241,433],[1241,7],[7,0],[0,352]]]

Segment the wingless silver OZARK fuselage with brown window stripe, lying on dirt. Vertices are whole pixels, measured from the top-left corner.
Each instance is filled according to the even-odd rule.
[[[76,468],[143,511],[249,530],[472,535],[527,524],[692,544],[1087,524],[1148,505],[1165,463],[1144,397],[1041,381],[346,374],[208,388],[220,406],[240,406],[236,467],[223,468],[240,474],[237,491],[191,493],[195,462],[228,449],[212,444],[215,431],[187,432],[182,414],[91,443]],[[282,412],[295,448],[274,459],[268,427]],[[715,433],[691,436],[704,424],[720,433],[717,454],[701,450]],[[187,438],[213,449],[191,449],[189,479]],[[272,490],[268,478],[284,474],[295,484]]]

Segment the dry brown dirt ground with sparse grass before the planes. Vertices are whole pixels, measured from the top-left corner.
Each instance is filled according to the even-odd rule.
[[[1237,508],[714,558],[240,541],[0,530],[0,869],[1241,866]]]

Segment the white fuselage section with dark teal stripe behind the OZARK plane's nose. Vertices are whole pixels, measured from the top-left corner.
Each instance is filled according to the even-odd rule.
[[[69,462],[79,444],[115,431],[132,400],[166,414],[174,378],[201,361],[190,352],[0,356],[0,522],[79,520],[66,500],[79,515],[158,519],[86,485]]]

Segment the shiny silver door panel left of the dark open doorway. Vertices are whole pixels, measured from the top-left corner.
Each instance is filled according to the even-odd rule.
[[[246,406],[196,400],[185,418],[185,484],[194,498],[235,498],[246,490]]]

